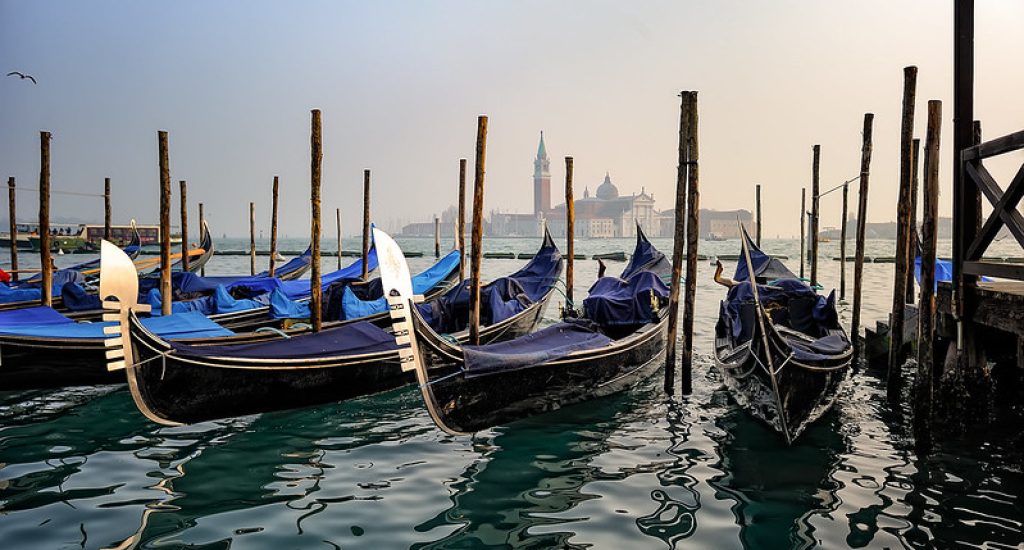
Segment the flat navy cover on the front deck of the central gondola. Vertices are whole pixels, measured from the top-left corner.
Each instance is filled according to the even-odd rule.
[[[536,367],[611,343],[587,322],[557,323],[515,340],[462,347],[466,378]]]

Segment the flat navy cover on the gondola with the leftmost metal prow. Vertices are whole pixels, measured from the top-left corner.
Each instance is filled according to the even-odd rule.
[[[397,349],[394,336],[365,321],[319,333],[252,344],[193,346],[172,342],[171,346],[177,353],[191,357],[271,359],[347,356]]]

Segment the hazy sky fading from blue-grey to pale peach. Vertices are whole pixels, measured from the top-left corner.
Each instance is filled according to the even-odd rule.
[[[977,4],[975,114],[994,137],[1024,128],[1024,2]],[[823,188],[856,175],[865,112],[876,114],[868,219],[893,218],[902,69],[916,65],[921,137],[927,100],[943,100],[947,213],[951,29],[950,0],[0,0],[0,70],[39,81],[0,81],[0,175],[35,187],[49,130],[54,189],[98,194],[110,176],[115,220],[152,222],[165,129],[171,177],[188,180],[191,211],[205,202],[215,234],[246,234],[249,201],[266,229],[278,174],[282,231],[300,237],[318,108],[324,209],[341,207],[351,234],[364,168],[378,223],[425,221],[453,204],[458,159],[472,167],[486,114],[487,210],[531,209],[541,130],[553,202],[571,155],[578,196],[609,171],[621,193],[644,186],[670,208],[677,94],[694,89],[701,206],[752,208],[760,182],[765,235],[784,237],[799,231],[811,145],[822,146]],[[35,218],[36,199],[18,195],[20,219]],[[840,201],[823,200],[823,227],[838,224]],[[54,196],[52,208],[102,219],[98,198]]]

